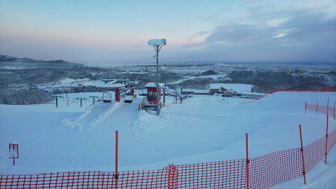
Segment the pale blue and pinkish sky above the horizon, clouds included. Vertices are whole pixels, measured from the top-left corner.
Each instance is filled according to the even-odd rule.
[[[336,1],[0,0],[0,54],[86,64],[335,62]]]

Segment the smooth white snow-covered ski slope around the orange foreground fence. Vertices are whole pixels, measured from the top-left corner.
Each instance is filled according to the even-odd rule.
[[[336,92],[276,92],[258,101],[194,95],[183,104],[168,106],[160,116],[139,111],[141,98],[90,106],[96,93],[68,94],[87,97],[66,106],[65,98],[54,104],[31,106],[0,105],[0,173],[31,174],[82,170],[114,170],[114,132],[119,131],[119,169],[160,169],[168,164],[190,164],[245,158],[245,133],[254,158],[274,151],[307,145],[325,134],[325,116],[304,113],[304,102],[325,105],[335,102]],[[101,95],[101,94],[100,94]],[[65,103],[65,104],[64,104]],[[330,119],[329,130],[335,130]],[[20,159],[13,167],[8,144],[19,144]],[[336,150],[328,165],[322,162],[303,179],[275,188],[330,188],[336,185]]]

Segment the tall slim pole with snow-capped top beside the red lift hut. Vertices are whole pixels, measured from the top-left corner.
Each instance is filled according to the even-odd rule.
[[[162,38],[162,39],[151,39],[148,41],[148,45],[153,46],[156,55],[154,56],[154,59],[156,59],[156,91],[157,91],[157,95],[156,95],[156,115],[160,115],[160,98],[159,97],[159,90],[160,90],[160,86],[159,86],[159,52],[162,48],[163,45],[166,45],[166,39]]]

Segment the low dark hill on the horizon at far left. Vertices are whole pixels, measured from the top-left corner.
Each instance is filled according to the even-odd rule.
[[[84,66],[84,64],[66,62],[62,59],[45,61],[0,55],[0,69],[74,68],[80,66]]]

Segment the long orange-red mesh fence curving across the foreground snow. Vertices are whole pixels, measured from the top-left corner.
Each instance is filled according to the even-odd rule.
[[[1,174],[0,188],[270,188],[310,172],[326,158],[335,143],[336,130],[333,130],[302,149],[292,148],[257,158],[118,173]]]

